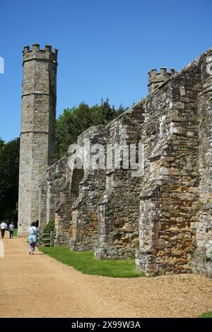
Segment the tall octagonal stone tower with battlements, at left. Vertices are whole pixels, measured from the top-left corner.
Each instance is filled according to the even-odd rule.
[[[54,155],[57,101],[57,49],[46,45],[23,49],[20,133],[18,236],[39,221],[40,181]]]

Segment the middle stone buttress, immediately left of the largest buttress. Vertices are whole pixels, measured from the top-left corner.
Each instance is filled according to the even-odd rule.
[[[142,110],[131,107],[107,126],[107,143],[119,147],[138,144],[139,124],[143,121]],[[138,148],[138,146],[136,146]],[[130,155],[130,149],[127,150]],[[125,159],[126,160],[126,159]],[[123,156],[120,155],[122,165]],[[128,167],[129,168],[129,167]],[[134,256],[139,237],[139,194],[141,175],[132,176],[132,170],[107,170],[106,189],[98,208],[99,259],[127,259]]]

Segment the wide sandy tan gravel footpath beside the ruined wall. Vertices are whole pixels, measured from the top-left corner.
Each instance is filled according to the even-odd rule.
[[[212,310],[212,280],[198,275],[108,278],[84,275],[4,239],[0,317],[196,317]]]

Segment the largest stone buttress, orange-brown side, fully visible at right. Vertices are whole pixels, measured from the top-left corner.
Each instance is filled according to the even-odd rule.
[[[136,266],[146,275],[192,271],[191,224],[199,206],[201,61],[194,61],[143,100],[146,165]]]

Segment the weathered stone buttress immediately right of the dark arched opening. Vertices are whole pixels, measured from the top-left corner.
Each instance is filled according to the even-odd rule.
[[[89,139],[90,147],[90,166],[86,168],[85,155],[80,156],[83,165],[83,178],[79,186],[78,197],[72,206],[72,219],[70,225],[70,247],[73,250],[94,250],[98,241],[98,202],[105,190],[105,170],[95,170],[93,158],[95,157],[98,146],[105,146],[107,131],[104,126],[94,126],[86,130],[78,137],[78,145],[85,147],[85,139]],[[75,156],[74,158],[77,158]],[[94,160],[95,161],[95,160]],[[76,171],[76,170],[75,170]],[[74,171],[72,176],[74,182]],[[71,188],[71,194],[74,186]]]

